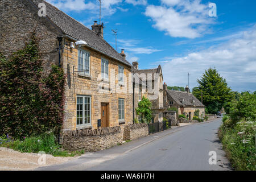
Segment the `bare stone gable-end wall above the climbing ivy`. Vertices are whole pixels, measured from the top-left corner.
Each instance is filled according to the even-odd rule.
[[[57,36],[62,33],[48,20],[39,17],[38,10],[27,0],[0,1],[0,52],[8,59],[11,54],[30,42],[32,32],[38,38],[44,73],[58,64]]]

